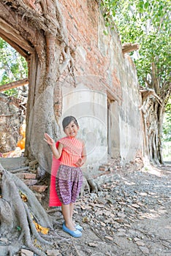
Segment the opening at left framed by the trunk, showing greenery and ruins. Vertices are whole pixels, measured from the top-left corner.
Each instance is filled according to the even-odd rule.
[[[0,37],[0,157],[20,157],[26,140],[28,64]]]

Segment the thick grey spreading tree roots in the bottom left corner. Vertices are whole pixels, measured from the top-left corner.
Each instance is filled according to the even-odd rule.
[[[11,238],[14,234],[18,235],[20,231],[19,241],[24,241],[24,244],[39,256],[46,256],[44,252],[37,249],[31,241],[31,234],[37,238],[42,244],[52,245],[50,241],[46,241],[39,235],[33,220],[38,222],[43,227],[50,227],[53,229],[52,222],[47,216],[44,208],[40,205],[34,193],[23,183],[20,179],[9,173],[0,165],[0,232],[4,236],[9,233]],[[21,195],[24,196],[24,200]],[[4,247],[4,246],[3,246]],[[9,255],[14,253],[10,248]],[[1,251],[2,250],[2,251]],[[4,248],[0,247],[0,255],[2,255]]]

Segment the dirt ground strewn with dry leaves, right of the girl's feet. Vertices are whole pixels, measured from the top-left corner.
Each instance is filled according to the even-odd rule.
[[[77,201],[75,220],[83,226],[81,238],[68,238],[54,248],[62,256],[169,256],[171,255],[171,165],[143,167],[142,170],[114,174],[114,181],[102,192]],[[47,251],[47,255],[53,255]]]

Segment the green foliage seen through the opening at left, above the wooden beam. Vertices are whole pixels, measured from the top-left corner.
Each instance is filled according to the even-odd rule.
[[[15,80],[27,78],[26,59],[0,37],[0,86]],[[18,94],[17,89],[5,91],[8,95]]]

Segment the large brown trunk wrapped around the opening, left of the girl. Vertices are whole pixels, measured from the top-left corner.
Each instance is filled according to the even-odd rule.
[[[50,171],[51,152],[43,138],[45,132],[58,138],[53,95],[64,69],[73,67],[72,57],[58,1],[25,3],[0,2],[0,35],[28,61],[25,155]]]

